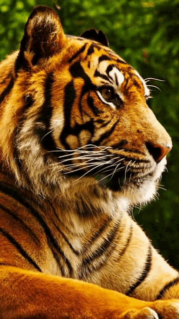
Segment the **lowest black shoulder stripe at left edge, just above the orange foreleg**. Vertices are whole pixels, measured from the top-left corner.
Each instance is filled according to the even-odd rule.
[[[8,239],[8,241],[15,246],[18,252],[28,260],[28,262],[34,266],[39,272],[42,272],[40,267],[34,262],[34,260],[28,255],[28,253],[22,248],[22,246],[13,238],[9,233],[7,233],[3,228],[0,227],[0,233]]]

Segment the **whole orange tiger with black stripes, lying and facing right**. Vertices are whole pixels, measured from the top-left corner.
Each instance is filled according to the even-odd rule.
[[[172,141],[104,33],[36,6],[0,63],[0,318],[177,319],[179,273],[131,217]]]

